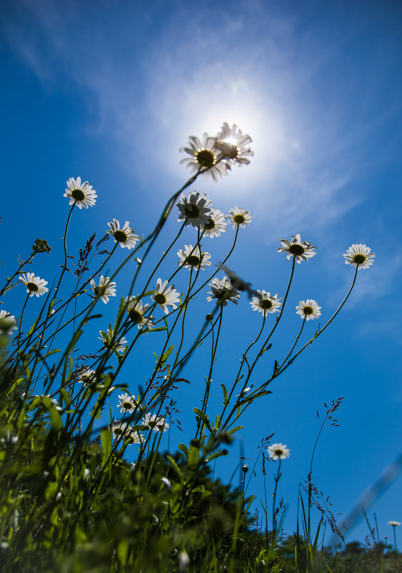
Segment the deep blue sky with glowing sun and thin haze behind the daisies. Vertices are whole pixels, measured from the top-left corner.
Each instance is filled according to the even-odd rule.
[[[376,252],[374,265],[359,271],[346,309],[274,382],[273,394],[253,404],[241,434],[250,465],[271,432],[291,449],[280,485],[291,533],[316,411],[344,396],[341,426],[324,432],[313,479],[340,520],[346,517],[401,452],[401,5],[236,0],[206,1],[201,9],[192,1],[13,0],[0,11],[2,276],[41,236],[53,251],[33,270],[51,282],[61,263],[70,176],[88,179],[98,194],[93,209],[74,213],[72,250],[95,230],[101,236],[113,217],[149,232],[189,175],[179,147],[189,135],[215,134],[223,121],[251,135],[255,155],[249,166],[195,188],[225,212],[238,205],[253,215],[231,268],[283,296],[290,266],[276,253],[279,239],[300,232],[318,246],[317,256],[296,269],[278,352],[296,336],[291,307],[298,300],[315,298],[323,319],[336,309],[353,275],[343,264],[348,246],[366,243]],[[167,236],[176,229],[173,217]],[[208,241],[214,261],[231,239],[228,229],[221,243]],[[19,316],[22,300],[14,289],[4,308]],[[227,315],[218,379],[236,368],[259,327],[245,297]],[[264,368],[271,371],[269,359],[261,377]],[[136,364],[136,372],[146,377],[146,364]],[[191,437],[189,404],[196,405],[203,374],[195,362],[186,375],[194,384],[181,395],[180,418]],[[135,392],[137,380],[126,376]],[[218,404],[218,393],[214,399]],[[239,439],[231,463],[218,467],[223,479],[240,449]],[[401,480],[368,508],[390,539],[386,522],[402,521]],[[250,492],[262,495],[259,469]],[[347,539],[366,534],[361,522]]]

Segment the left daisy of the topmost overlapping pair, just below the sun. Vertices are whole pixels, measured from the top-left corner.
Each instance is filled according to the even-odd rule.
[[[190,156],[181,159],[180,163],[186,164],[192,173],[196,173],[199,169],[205,170],[203,176],[212,177],[213,181],[218,181],[219,177],[227,174],[226,169],[230,169],[230,165],[219,162],[222,154],[217,139],[208,137],[207,134],[203,134],[202,141],[198,137],[190,136],[187,146],[181,147],[179,151]]]

